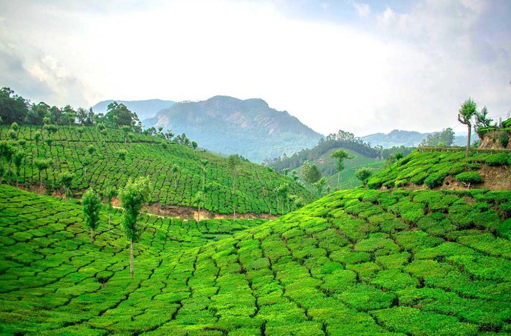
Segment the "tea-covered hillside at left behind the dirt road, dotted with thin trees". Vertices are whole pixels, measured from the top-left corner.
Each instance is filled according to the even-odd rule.
[[[23,147],[28,153],[21,165],[19,182],[33,190],[38,189],[39,184],[39,171],[35,167],[39,156],[53,162],[47,171],[42,171],[43,184],[49,192],[61,189],[63,171],[75,174],[72,189],[78,194],[90,186],[114,184],[121,187],[130,177],[144,175],[151,178],[154,186],[153,203],[195,206],[192,199],[202,189],[202,161],[207,160],[204,184],[211,186],[205,200],[208,211],[230,214],[234,200],[238,213],[277,214],[275,189],[285,182],[290,184],[290,194],[310,200],[307,191],[291,179],[247,162],[241,164],[233,194],[233,174],[226,159],[159,137],[130,133],[131,138],[125,143],[121,130],[107,128],[99,132],[94,127],[58,126],[54,134],[42,131],[44,139],[36,143],[34,134],[38,130],[38,126],[22,126],[16,136],[18,140],[27,140],[26,143],[13,142],[16,148]],[[1,127],[0,140],[6,140],[9,131],[8,127]],[[53,143],[49,145],[46,138],[54,139]],[[2,162],[7,170],[7,160]],[[177,172],[172,171],[173,165],[178,166]],[[7,179],[7,172],[4,175]]]

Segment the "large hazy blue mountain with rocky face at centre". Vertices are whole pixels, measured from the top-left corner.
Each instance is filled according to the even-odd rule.
[[[288,112],[272,109],[257,98],[215,96],[179,102],[143,123],[170,128],[176,135],[185,133],[203,148],[239,153],[254,162],[312,147],[322,138]]]

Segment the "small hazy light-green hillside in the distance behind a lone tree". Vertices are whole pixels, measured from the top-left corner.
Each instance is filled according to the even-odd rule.
[[[315,163],[318,166],[323,176],[327,176],[328,184],[332,187],[332,189],[337,187],[336,161],[334,158],[332,158],[332,152],[337,149],[339,148],[330,149],[326,153],[321,154],[318,159],[311,161],[311,163]],[[352,189],[362,184],[362,182],[357,177],[355,177],[355,172],[358,169],[362,167],[369,167],[374,168],[374,171],[376,172],[383,165],[383,161],[366,157],[350,149],[341,149],[346,150],[352,159],[345,159],[343,161],[344,169],[340,174],[339,189]],[[301,166],[296,169],[297,172],[300,170]]]

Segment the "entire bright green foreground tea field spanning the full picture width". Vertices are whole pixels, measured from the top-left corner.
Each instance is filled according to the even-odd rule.
[[[509,191],[339,191],[211,243],[143,217],[133,280],[117,214],[90,244],[72,202],[0,198],[5,334],[511,332]]]

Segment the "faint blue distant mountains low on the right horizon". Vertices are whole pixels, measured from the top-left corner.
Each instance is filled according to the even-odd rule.
[[[426,139],[426,137],[433,133],[419,133],[415,131],[401,131],[401,130],[393,130],[392,132],[385,133],[375,133],[366,135],[365,137],[360,137],[364,142],[369,142],[371,146],[381,145],[383,148],[390,148],[393,146],[405,146],[405,147],[413,147],[417,146],[421,143],[422,140]],[[477,134],[472,134],[472,141],[479,139]],[[467,144],[467,134],[466,133],[456,133],[454,136],[454,144],[455,146],[464,146]]]

